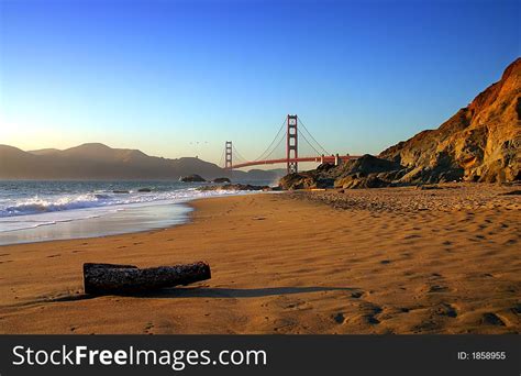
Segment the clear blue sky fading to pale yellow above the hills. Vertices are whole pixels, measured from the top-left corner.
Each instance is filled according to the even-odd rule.
[[[0,0],[0,144],[247,158],[436,128],[521,55],[519,1]],[[199,142],[199,144],[197,144]]]

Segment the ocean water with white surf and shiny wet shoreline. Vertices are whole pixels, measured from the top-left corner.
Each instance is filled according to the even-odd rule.
[[[247,193],[197,190],[202,185],[180,181],[0,181],[0,245],[167,228],[188,220],[191,209],[186,202],[190,200]]]

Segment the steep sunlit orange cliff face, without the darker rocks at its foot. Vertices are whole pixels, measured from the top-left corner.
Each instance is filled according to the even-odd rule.
[[[380,153],[411,170],[404,181],[521,179],[521,58],[437,130]]]

